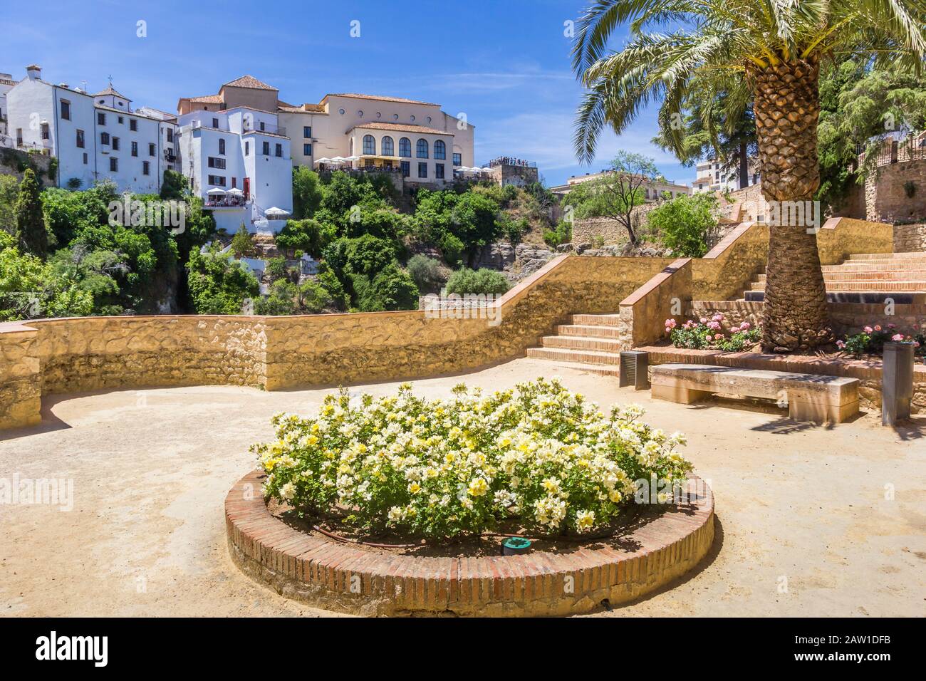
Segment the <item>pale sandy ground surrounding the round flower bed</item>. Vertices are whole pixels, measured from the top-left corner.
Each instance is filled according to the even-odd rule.
[[[652,401],[616,378],[532,359],[415,387],[440,396],[461,380],[496,389],[554,374],[603,406],[638,402],[649,422],[685,432],[685,454],[716,495],[717,539],[698,569],[593,616],[926,614],[926,417],[893,430],[869,413],[828,429],[733,401]],[[72,479],[73,510],[0,505],[0,614],[330,614],[241,574],[222,516],[227,490],[255,466],[248,446],[271,435],[270,415],[313,410],[327,392],[47,400],[42,426],[0,433],[0,478]]]

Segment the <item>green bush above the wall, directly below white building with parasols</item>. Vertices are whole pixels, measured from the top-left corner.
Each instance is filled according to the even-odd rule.
[[[244,300],[256,298],[257,277],[241,260],[219,253],[213,244],[205,253],[190,255],[189,287],[198,314],[241,314]]]

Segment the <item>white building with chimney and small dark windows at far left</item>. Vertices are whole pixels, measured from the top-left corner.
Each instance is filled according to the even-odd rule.
[[[26,78],[6,93],[16,148],[56,157],[60,187],[86,189],[108,179],[119,191],[160,191],[175,122],[132,111],[131,100],[112,85],[89,95],[41,76],[40,67],[26,67]]]

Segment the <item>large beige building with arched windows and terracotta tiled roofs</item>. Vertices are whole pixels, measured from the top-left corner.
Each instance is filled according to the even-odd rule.
[[[473,126],[440,105],[402,97],[325,95],[319,104],[294,106],[253,76],[226,82],[218,95],[183,97],[181,117],[194,110],[254,107],[279,116],[294,165],[319,169],[320,158],[351,158],[354,168],[402,171],[409,183],[453,181],[457,166],[473,166]]]

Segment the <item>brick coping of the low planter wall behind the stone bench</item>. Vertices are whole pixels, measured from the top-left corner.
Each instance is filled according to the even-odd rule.
[[[713,364],[743,369],[770,369],[779,372],[819,373],[847,378],[881,378],[882,363],[872,359],[821,358],[812,355],[773,355],[761,352],[723,352],[685,347],[634,347],[649,353],[649,364]],[[914,364],[913,382],[926,384],[926,366]]]

